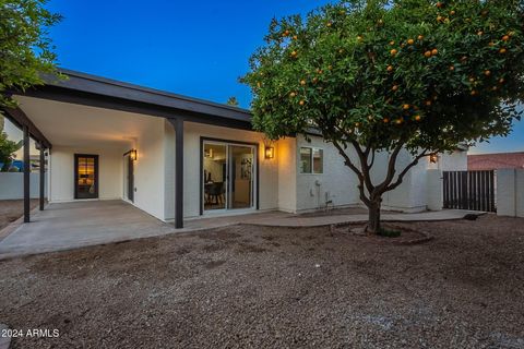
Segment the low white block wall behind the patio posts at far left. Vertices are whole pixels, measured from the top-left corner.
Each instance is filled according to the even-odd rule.
[[[45,195],[47,197],[47,173],[45,179]],[[40,174],[29,174],[29,195],[38,198],[40,195]],[[0,200],[24,198],[24,173],[23,172],[0,172]]]

